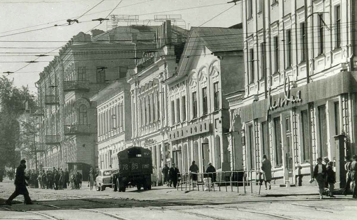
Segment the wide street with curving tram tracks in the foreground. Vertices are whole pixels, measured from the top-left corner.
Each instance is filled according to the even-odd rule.
[[[29,189],[34,205],[20,195],[12,206],[0,206],[0,219],[355,219],[357,204],[351,196],[318,199],[317,188],[291,187],[237,193],[190,191],[166,186],[152,190],[127,189],[125,193],[80,190]],[[0,184],[0,200],[14,189],[8,179]],[[254,186],[256,187],[256,186]],[[254,188],[255,189],[255,188]],[[298,193],[294,193],[298,192]],[[332,201],[333,200],[333,201]]]

